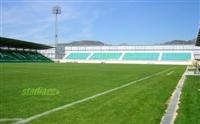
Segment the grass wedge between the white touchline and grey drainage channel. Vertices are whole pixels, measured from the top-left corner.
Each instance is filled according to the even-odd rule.
[[[185,67],[177,66],[173,70],[175,70],[173,75],[167,76],[168,71],[29,123],[159,124],[167,107],[167,101]],[[137,79],[139,78],[142,77]]]

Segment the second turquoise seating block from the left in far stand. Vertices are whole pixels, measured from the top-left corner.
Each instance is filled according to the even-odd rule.
[[[94,53],[91,60],[118,60],[122,53]]]

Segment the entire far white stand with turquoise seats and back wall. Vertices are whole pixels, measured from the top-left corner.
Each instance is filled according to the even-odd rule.
[[[198,51],[194,45],[66,46],[60,62],[188,65]]]

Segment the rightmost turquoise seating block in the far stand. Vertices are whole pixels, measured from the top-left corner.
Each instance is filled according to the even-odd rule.
[[[182,61],[182,60],[191,60],[191,53],[163,53],[162,60],[169,61]]]

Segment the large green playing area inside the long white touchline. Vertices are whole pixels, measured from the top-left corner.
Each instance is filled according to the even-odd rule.
[[[0,118],[28,118],[171,67],[173,66],[4,64],[3,74],[0,74],[2,86],[0,97],[3,98],[0,102]],[[15,73],[13,70],[23,73]],[[28,88],[56,88],[60,94],[56,96],[22,95],[22,91]],[[14,104],[13,101],[15,101]]]

